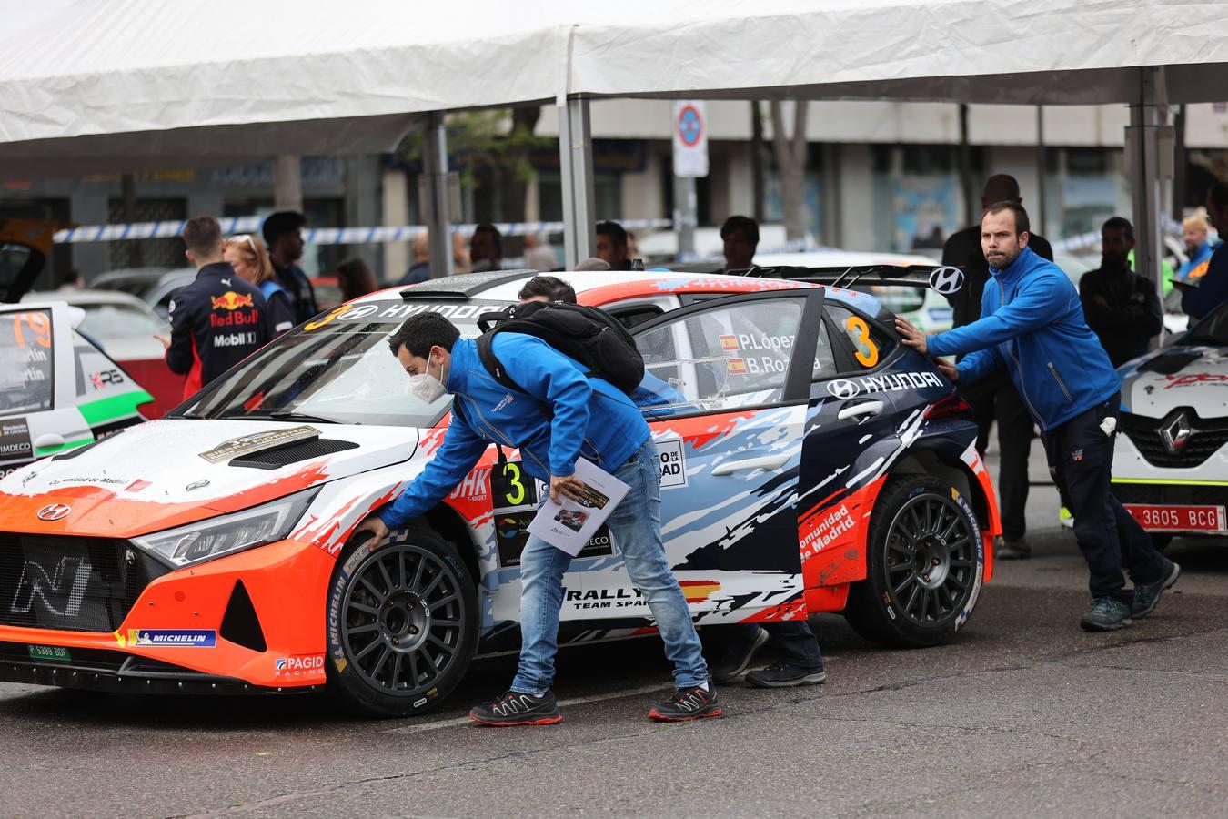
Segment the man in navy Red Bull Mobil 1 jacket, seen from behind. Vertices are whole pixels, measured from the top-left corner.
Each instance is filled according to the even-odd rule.
[[[187,376],[187,399],[269,341],[260,290],[243,281],[222,258],[222,231],[212,216],[183,227],[196,280],[171,300],[171,339],[166,363]]]

